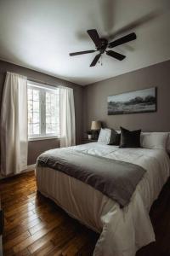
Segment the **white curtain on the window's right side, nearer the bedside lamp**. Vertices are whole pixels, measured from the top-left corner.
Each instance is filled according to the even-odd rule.
[[[60,147],[76,144],[75,106],[73,90],[60,87]]]

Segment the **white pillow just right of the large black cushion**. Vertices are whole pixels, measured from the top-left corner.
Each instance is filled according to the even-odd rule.
[[[168,132],[144,132],[140,137],[142,148],[165,149],[167,148]]]

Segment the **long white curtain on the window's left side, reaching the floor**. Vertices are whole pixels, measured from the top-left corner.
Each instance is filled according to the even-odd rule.
[[[27,79],[7,73],[1,110],[1,172],[20,173],[27,168]]]

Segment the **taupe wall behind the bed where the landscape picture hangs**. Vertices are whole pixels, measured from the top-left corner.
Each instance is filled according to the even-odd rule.
[[[107,96],[152,86],[157,87],[156,113],[107,115]],[[122,125],[132,130],[170,131],[170,61],[86,86],[83,108],[84,131],[93,119],[115,129]]]

